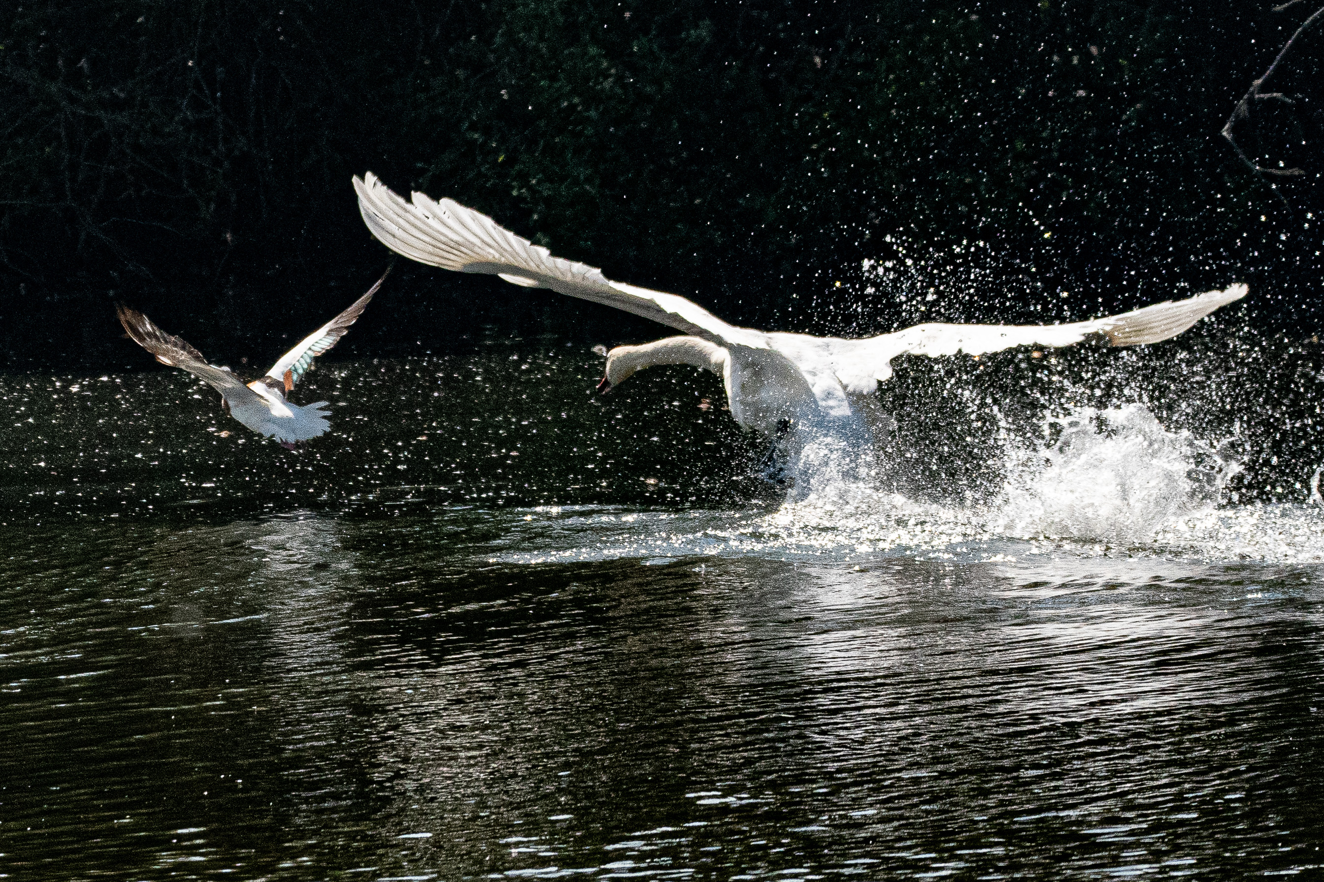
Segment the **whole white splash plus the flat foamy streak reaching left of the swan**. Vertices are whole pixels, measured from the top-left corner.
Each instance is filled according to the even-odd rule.
[[[506,561],[765,555],[865,559],[920,554],[1160,555],[1324,561],[1311,505],[1226,505],[1230,444],[1169,431],[1141,405],[1075,409],[1037,438],[1008,428],[1002,487],[984,501],[918,501],[888,491],[888,463],[858,432],[809,434],[790,456],[788,499],[760,512],[577,509],[522,525]],[[551,529],[547,529],[551,528]]]

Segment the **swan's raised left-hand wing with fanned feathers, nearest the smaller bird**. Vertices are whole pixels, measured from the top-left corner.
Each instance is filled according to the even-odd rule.
[[[413,201],[406,202],[372,172],[363,180],[355,177],[354,189],[372,234],[412,261],[459,272],[499,275],[527,288],[551,288],[722,345],[768,348],[761,331],[730,325],[682,296],[612,282],[601,270],[555,258],[540,245],[451,200],[433,201],[424,193],[414,193]]]

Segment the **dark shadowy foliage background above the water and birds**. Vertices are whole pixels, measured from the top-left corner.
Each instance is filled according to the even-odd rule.
[[[1275,179],[1282,198],[1218,135],[1305,4],[7,9],[9,365],[124,362],[115,298],[216,357],[274,356],[282,329],[311,328],[385,261],[350,188],[365,169],[769,329],[1047,321],[1245,279],[1253,321],[1316,331],[1320,36],[1275,74],[1290,100],[1238,130],[1262,165],[1305,172]],[[495,280],[399,268],[347,352],[654,335]],[[915,296],[931,276],[944,296]]]

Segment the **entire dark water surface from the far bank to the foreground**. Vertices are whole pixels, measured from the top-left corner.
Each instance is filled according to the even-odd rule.
[[[782,504],[715,381],[559,352],[334,365],[298,454],[3,378],[0,873],[1319,873],[1316,509]]]

